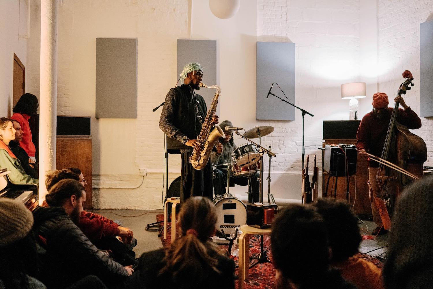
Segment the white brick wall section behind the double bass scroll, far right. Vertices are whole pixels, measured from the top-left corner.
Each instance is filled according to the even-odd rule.
[[[379,89],[395,97],[404,70],[414,75],[415,86],[403,95],[407,105],[420,114],[420,23],[433,13],[432,0],[379,0]],[[433,119],[421,118],[423,126],[413,132],[427,144],[426,166],[433,166]]]

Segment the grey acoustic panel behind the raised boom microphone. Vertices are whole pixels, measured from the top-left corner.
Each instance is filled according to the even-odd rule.
[[[257,42],[256,107],[258,120],[294,120],[295,108],[268,94],[272,82],[280,85],[291,102],[295,102],[295,44]],[[271,91],[284,98],[277,85]]]

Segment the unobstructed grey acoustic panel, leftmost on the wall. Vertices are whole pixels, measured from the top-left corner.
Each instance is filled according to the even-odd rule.
[[[137,118],[137,39],[96,39],[96,118]]]

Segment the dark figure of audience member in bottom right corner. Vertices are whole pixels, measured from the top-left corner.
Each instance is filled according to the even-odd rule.
[[[433,177],[415,181],[401,194],[392,218],[383,276],[388,289],[432,288]]]

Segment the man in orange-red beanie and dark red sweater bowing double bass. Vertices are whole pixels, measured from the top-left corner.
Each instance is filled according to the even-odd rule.
[[[420,118],[407,106],[403,97],[397,96],[394,98],[394,101],[400,102],[400,106],[403,107],[403,109],[399,108],[397,111],[397,122],[412,130],[420,128]],[[356,147],[359,150],[375,156],[381,156],[393,110],[392,107],[388,107],[388,104],[388,95],[385,93],[377,92],[373,95],[373,110],[362,118],[358,133],[356,134]],[[365,153],[360,153],[360,155],[368,157]],[[373,235],[387,233],[387,231],[381,228],[382,220],[374,202],[374,197],[384,198],[376,179],[378,165],[377,162],[368,160],[368,191],[370,201],[372,202],[373,221],[377,226],[372,232]]]

